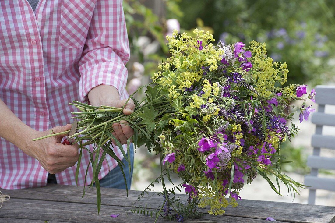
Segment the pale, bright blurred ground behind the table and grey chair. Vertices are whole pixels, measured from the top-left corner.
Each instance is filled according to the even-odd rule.
[[[313,106],[316,107],[316,106]],[[333,113],[335,114],[335,106],[326,106],[326,113]],[[294,147],[300,147],[303,146],[306,148],[304,151],[308,155],[312,154],[313,148],[311,147],[311,136],[315,132],[315,125],[311,123],[311,119],[308,121],[304,121],[303,123],[298,122],[298,117],[295,117],[294,123],[299,126],[300,133],[297,137],[293,138],[292,144]],[[324,127],[323,134],[328,135],[335,135],[335,128],[334,127]],[[322,151],[322,156],[329,156],[329,157],[335,157],[335,151]],[[137,158],[143,158],[145,156],[144,154],[136,153]],[[136,158],[136,159],[137,159]],[[151,182],[147,180],[145,177],[146,175],[150,175],[151,173],[148,173],[147,170],[143,169],[143,171],[139,171],[138,175],[140,175],[140,179],[134,180],[132,183],[132,189],[134,190],[143,190],[145,187],[147,187]],[[297,182],[304,182],[304,175],[300,175],[297,173],[287,173],[291,178],[296,180]],[[327,176],[327,177],[334,177]],[[179,183],[178,179],[174,181],[175,183]],[[335,185],[334,185],[335,186]],[[170,183],[167,184],[167,188],[171,188],[172,185]],[[155,191],[161,191],[162,187],[161,185],[155,185],[154,186]],[[178,191],[177,191],[178,192]],[[293,203],[303,203],[307,204],[308,200],[308,189],[302,189],[300,191],[301,196],[296,196],[295,199],[288,195],[287,188],[282,184],[281,186],[281,193],[283,196],[278,196],[269,186],[267,181],[262,178],[261,176],[256,177],[256,179],[252,182],[251,185],[245,185],[245,187],[242,189],[240,196],[242,199],[249,199],[249,200],[261,200],[261,201],[277,201],[277,202],[293,202]],[[287,196],[288,195],[288,196]],[[327,205],[327,206],[335,206],[335,192],[330,192],[326,190],[317,190],[317,198],[316,198],[316,205]]]

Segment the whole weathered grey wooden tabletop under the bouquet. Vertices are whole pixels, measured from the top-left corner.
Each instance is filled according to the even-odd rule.
[[[21,190],[1,190],[9,195],[9,201],[0,209],[0,222],[35,223],[35,222],[154,222],[154,218],[130,212],[139,191],[102,188],[102,206],[97,215],[95,191],[86,189],[82,197],[82,187],[49,185],[46,187]],[[163,198],[149,194],[144,202],[150,202],[151,208],[163,203]],[[151,196],[151,197],[150,197]],[[182,195],[185,200],[188,198]],[[183,199],[182,198],[182,199]],[[200,219],[185,219],[184,222],[267,222],[272,217],[278,222],[331,222],[335,223],[335,207],[304,205],[282,202],[241,200],[236,208],[226,208],[222,216],[205,214]],[[206,209],[200,209],[206,213]],[[117,218],[111,214],[121,215]],[[168,222],[159,218],[157,222]]]

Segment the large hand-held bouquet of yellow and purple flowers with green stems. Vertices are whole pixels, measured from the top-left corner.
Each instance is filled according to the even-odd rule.
[[[239,191],[256,175],[264,177],[278,194],[279,180],[291,194],[298,193],[304,185],[281,173],[280,144],[299,130],[294,124],[286,125],[295,112],[300,112],[301,122],[314,111],[305,106],[305,100],[314,101],[315,91],[303,97],[306,85],[282,87],[287,64],[268,57],[265,43],[251,41],[246,48],[242,42],[213,44],[212,35],[197,29],[194,35],[196,38],[174,31],[166,37],[171,56],[159,64],[146,98],[142,102],[133,99],[136,108],[131,115],[123,115],[122,108],[73,102],[81,110],[73,113],[81,131],[72,135],[80,142],[80,154],[85,145],[97,145],[88,151],[94,173],[91,185],[98,182],[106,154],[123,169],[110,139],[117,142],[112,124],[126,120],[134,129],[134,145],[145,144],[162,161],[161,174],[153,183],[162,183],[164,191],[159,194],[164,199],[159,209],[149,210],[151,215],[155,212],[156,220],[159,215],[177,221],[199,217],[197,207],[208,205],[210,214],[223,214],[223,208],[238,205]],[[302,107],[293,106],[295,100],[303,101]],[[130,143],[129,139],[128,152]],[[120,143],[118,146],[123,151]],[[128,158],[125,153],[124,157]],[[171,181],[171,172],[183,183],[167,189],[164,180]],[[185,190],[189,199],[180,201],[175,189]],[[149,187],[138,197],[139,203],[147,190]],[[133,212],[139,210],[147,212],[148,208],[140,204]]]

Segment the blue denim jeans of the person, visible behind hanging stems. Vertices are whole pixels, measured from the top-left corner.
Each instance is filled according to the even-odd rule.
[[[125,158],[122,159],[122,163],[124,163],[123,172],[126,176],[127,187],[130,189],[131,185],[131,177],[133,175],[134,168],[134,144],[130,144],[130,164],[131,171],[129,173],[129,165]],[[113,170],[111,170],[104,178],[99,180],[100,187],[109,187],[109,188],[118,188],[118,189],[126,189],[126,184],[120,170],[119,166],[116,166]],[[93,184],[95,186],[95,183]]]

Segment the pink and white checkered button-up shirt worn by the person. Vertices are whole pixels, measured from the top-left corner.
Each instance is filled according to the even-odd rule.
[[[95,86],[129,97],[129,51],[122,0],[40,0],[35,12],[26,0],[0,1],[0,98],[36,130],[72,123],[69,102],[87,100]],[[79,185],[88,163],[83,151]],[[99,179],[116,166],[107,157]],[[75,172],[76,166],[56,174],[58,183],[75,185]],[[0,187],[45,186],[47,175],[39,161],[0,138]]]

